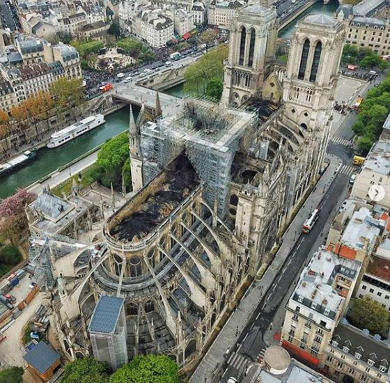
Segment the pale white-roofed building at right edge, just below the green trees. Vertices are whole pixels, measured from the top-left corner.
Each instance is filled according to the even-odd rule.
[[[352,187],[352,196],[365,198],[370,201],[370,187],[383,187],[384,196],[380,205],[390,208],[390,140],[380,139],[366,157],[366,161],[361,166],[361,171],[356,177]]]

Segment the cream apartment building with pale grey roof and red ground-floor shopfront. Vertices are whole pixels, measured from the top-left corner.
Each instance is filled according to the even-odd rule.
[[[348,306],[360,267],[325,248],[313,254],[286,305],[283,347],[311,364],[324,364],[325,347]]]

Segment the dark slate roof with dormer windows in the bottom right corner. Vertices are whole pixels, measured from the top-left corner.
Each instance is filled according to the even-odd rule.
[[[331,345],[339,350],[347,347],[348,354],[360,354],[361,361],[372,360],[375,368],[384,366],[386,371],[389,369],[390,345],[381,341],[379,335],[370,335],[367,329],[360,330],[349,325],[345,319],[342,319],[334,330]]]

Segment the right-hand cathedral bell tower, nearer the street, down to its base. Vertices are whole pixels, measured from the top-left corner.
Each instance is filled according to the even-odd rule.
[[[320,173],[329,141],[344,39],[342,22],[327,15],[309,15],[297,23],[291,40],[283,79],[284,110],[280,124],[293,132],[290,209]]]

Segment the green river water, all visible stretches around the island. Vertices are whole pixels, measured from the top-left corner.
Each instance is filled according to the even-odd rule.
[[[279,37],[290,38],[295,29],[298,19],[313,13],[325,13],[326,15],[333,15],[334,11],[338,7],[337,0],[332,0],[326,6],[322,1],[318,1],[308,10],[306,10],[297,19],[293,20],[285,28],[279,32]],[[174,86],[171,89],[164,91],[170,95],[182,97],[183,85]],[[107,139],[120,132],[127,130],[129,123],[128,108],[123,108],[120,111],[116,111],[114,114],[107,116],[107,122],[96,127],[91,132],[83,134],[79,138],[66,143],[59,148],[47,149],[43,148],[38,152],[38,159],[31,162],[28,166],[12,173],[6,177],[0,178],[0,198],[6,198],[15,192],[17,188],[26,187],[33,182],[40,180],[45,175],[55,171],[60,166],[68,164],[79,157],[80,155],[88,152],[100,145]]]

